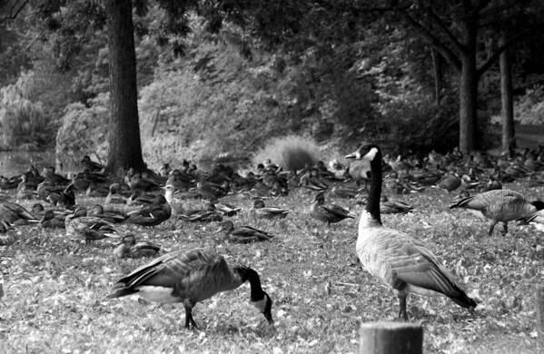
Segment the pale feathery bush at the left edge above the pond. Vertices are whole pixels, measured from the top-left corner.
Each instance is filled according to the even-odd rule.
[[[36,150],[50,144],[53,133],[42,103],[23,97],[15,85],[0,91],[0,149]]]

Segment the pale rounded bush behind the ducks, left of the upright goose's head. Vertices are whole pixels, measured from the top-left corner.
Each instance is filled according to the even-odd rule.
[[[284,170],[301,170],[307,163],[320,160],[320,148],[311,139],[297,135],[274,138],[259,152],[253,155],[252,162],[257,165],[268,159]]]

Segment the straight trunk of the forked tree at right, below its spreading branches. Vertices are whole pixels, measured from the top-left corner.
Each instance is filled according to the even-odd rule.
[[[478,116],[478,73],[476,63],[476,23],[468,21],[464,29],[466,50],[460,55],[460,129],[459,148],[461,152],[476,149],[476,121]]]

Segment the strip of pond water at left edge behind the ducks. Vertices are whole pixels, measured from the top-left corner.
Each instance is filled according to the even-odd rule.
[[[42,172],[44,166],[53,165],[57,172],[74,171],[74,166],[58,166],[54,161],[54,152],[0,152],[0,175],[7,177],[20,174],[28,169],[30,164],[34,164],[39,172]]]

